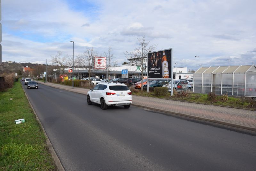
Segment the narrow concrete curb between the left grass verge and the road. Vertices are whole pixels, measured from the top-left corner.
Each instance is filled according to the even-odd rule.
[[[21,86],[22,86],[22,85],[21,85]],[[23,91],[24,91],[24,93],[25,93],[25,96],[26,96],[27,99],[28,99],[28,96],[27,96],[27,94],[26,94],[26,92],[25,92],[25,90],[24,90],[23,87],[22,87],[22,89],[23,89]],[[41,121],[39,120],[39,118],[38,118],[38,116],[37,116],[37,114],[36,114],[36,111],[34,110],[33,106],[31,105],[29,99],[28,99],[28,103],[29,103],[30,107],[32,108],[33,113],[35,114],[36,119],[37,119],[38,123],[40,124],[41,129],[42,129],[43,132],[44,132],[44,135],[45,135],[45,137],[46,137],[46,144],[47,144],[47,147],[48,147],[49,151],[51,152],[51,156],[52,156],[53,161],[55,162],[55,165],[56,165],[56,167],[57,167],[57,170],[59,170],[59,171],[65,171],[65,169],[64,169],[64,167],[62,166],[62,164],[61,164],[61,162],[60,162],[60,159],[59,159],[59,157],[57,156],[57,154],[56,154],[56,152],[55,152],[55,150],[54,150],[54,148],[53,148],[53,146],[52,146],[52,144],[51,144],[51,141],[49,140],[49,138],[48,138],[48,136],[47,136],[47,134],[46,134],[46,132],[45,132],[45,130],[44,130],[44,127],[43,127]]]

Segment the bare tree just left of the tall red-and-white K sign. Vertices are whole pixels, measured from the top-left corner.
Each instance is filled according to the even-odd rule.
[[[88,71],[89,74],[89,84],[91,84],[90,77],[92,75],[93,66],[94,66],[94,57],[97,56],[98,53],[92,48],[86,48],[84,53],[79,55],[79,61],[82,66]]]

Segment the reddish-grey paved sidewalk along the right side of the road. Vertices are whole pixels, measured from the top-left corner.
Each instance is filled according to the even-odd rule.
[[[89,89],[39,82],[51,87],[87,94]],[[40,88],[40,86],[39,86]],[[132,105],[256,131],[256,111],[190,102],[132,96]]]

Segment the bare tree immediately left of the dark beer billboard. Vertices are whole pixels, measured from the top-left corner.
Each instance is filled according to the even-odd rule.
[[[125,53],[125,56],[128,60],[132,62],[132,65],[140,66],[140,71],[143,80],[143,72],[146,69],[146,62],[148,58],[148,53],[153,51],[156,48],[156,45],[153,44],[149,46],[150,42],[146,42],[145,36],[138,38],[139,47],[135,48],[132,52]],[[141,91],[143,91],[143,82],[141,82]]]

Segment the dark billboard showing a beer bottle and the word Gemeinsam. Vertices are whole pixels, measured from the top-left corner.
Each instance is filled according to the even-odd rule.
[[[172,48],[148,53],[148,78],[171,77]]]

